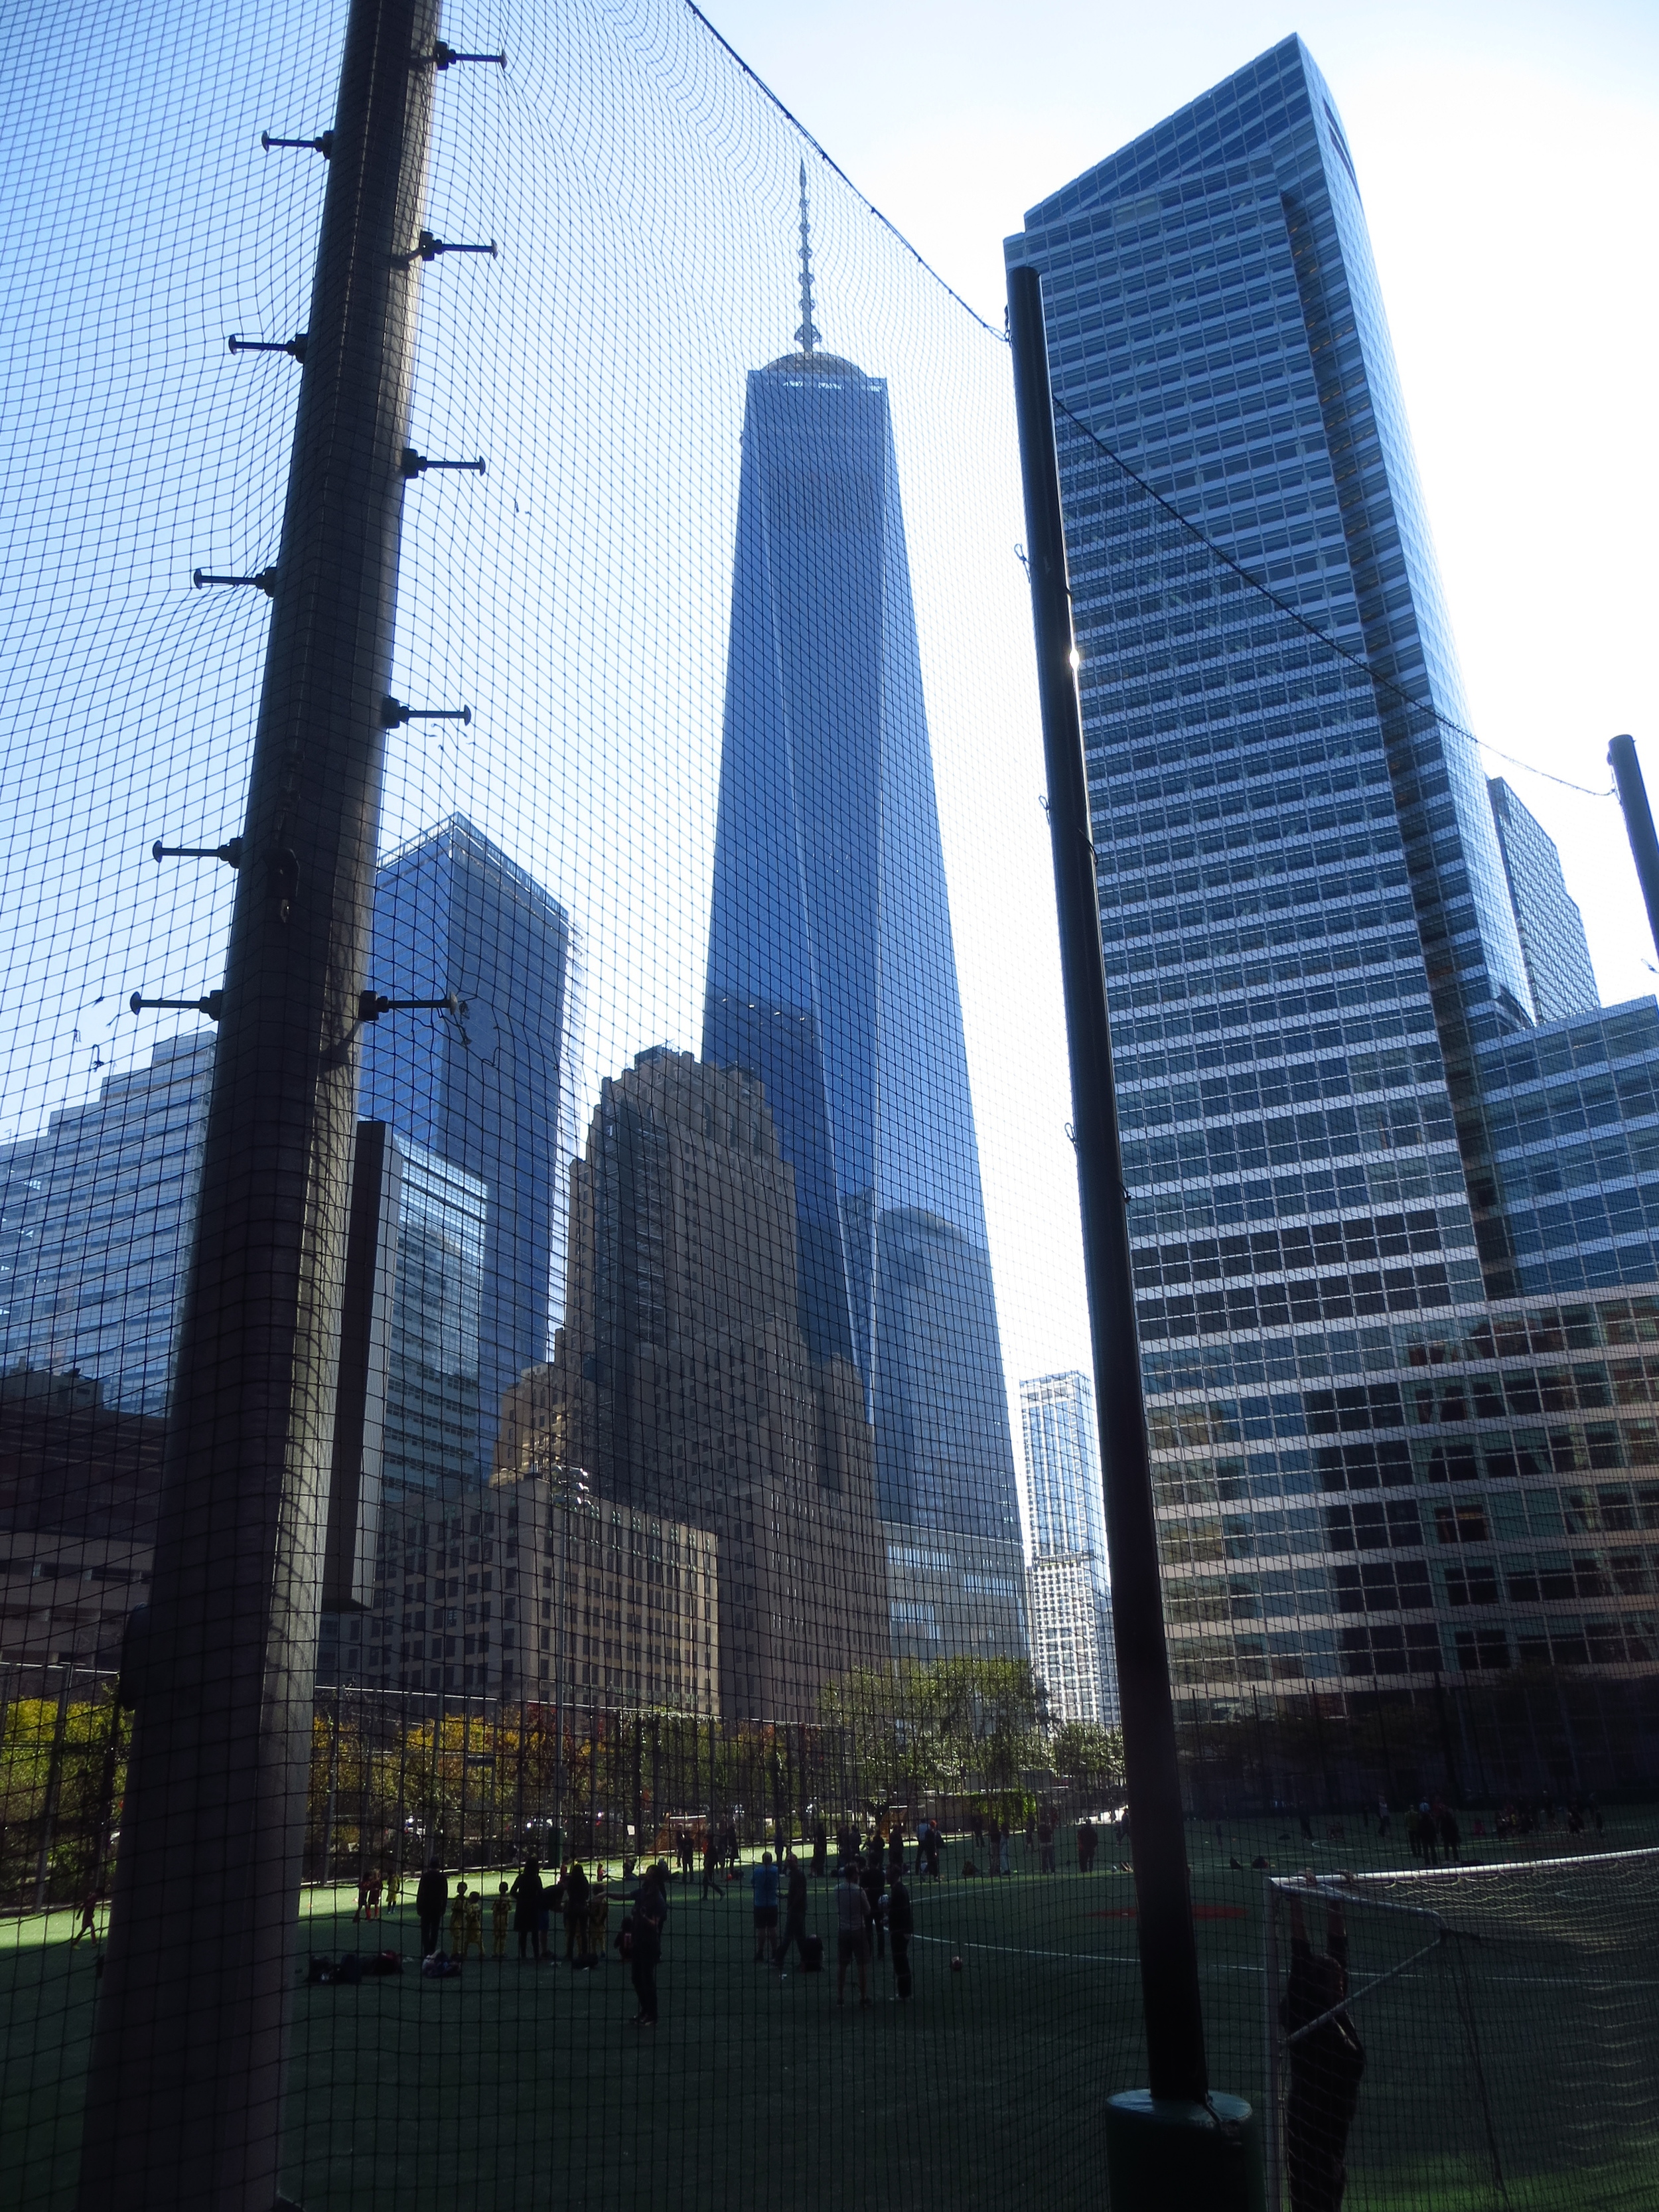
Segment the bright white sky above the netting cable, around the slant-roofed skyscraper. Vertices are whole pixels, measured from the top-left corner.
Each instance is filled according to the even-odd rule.
[[[1026,206],[1301,31],[1358,161],[1475,730],[1595,790],[1630,730],[1659,790],[1659,7],[712,0],[712,20],[998,323]],[[1617,805],[1513,781],[1562,845],[1601,995],[1655,989]]]

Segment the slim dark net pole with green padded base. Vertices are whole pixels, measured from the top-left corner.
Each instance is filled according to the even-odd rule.
[[[1031,268],[1009,270],[1009,341],[1024,476],[1026,562],[1037,639],[1150,2081],[1146,2090],[1110,2099],[1106,2170],[1113,2212],[1141,2212],[1141,2208],[1183,2212],[1188,2205],[1194,2212],[1197,2208],[1259,2212],[1263,2174],[1256,2119],[1239,2097],[1210,2093],[1203,2053],[1152,1467],[1135,1338],[1106,967],[1099,951],[1095,847],[1088,834],[1060,458],[1042,327],[1042,279]]]

